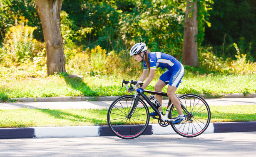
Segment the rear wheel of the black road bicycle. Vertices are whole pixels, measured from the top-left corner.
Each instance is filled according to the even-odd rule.
[[[186,120],[171,127],[176,133],[187,138],[193,138],[204,133],[211,121],[211,111],[207,102],[196,94],[185,94],[180,97],[180,103],[189,111]],[[185,113],[185,110],[183,109]],[[174,105],[171,106],[169,118],[178,116]]]

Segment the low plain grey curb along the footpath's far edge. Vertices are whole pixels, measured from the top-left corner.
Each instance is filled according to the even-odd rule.
[[[180,95],[180,94],[178,94]],[[204,94],[199,94],[204,97]],[[256,93],[247,94],[244,96],[242,93],[233,94],[218,94],[215,95],[222,98],[256,98]],[[214,96],[213,96],[214,97]],[[9,102],[56,102],[56,101],[114,101],[118,96],[105,96],[105,97],[40,97],[40,98],[10,98]],[[0,102],[2,102],[0,100]]]

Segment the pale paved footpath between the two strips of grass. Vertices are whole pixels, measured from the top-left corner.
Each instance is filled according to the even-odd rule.
[[[205,99],[211,105],[245,105],[256,104],[256,98],[221,98]],[[0,109],[108,109],[113,101],[55,101],[55,102],[16,102],[0,103]],[[167,106],[168,100],[163,100],[163,106]]]

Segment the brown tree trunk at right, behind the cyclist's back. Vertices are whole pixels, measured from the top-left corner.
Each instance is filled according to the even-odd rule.
[[[184,22],[184,39],[183,39],[183,64],[196,67],[199,65],[198,47],[196,35],[198,34],[197,17],[197,0],[186,1],[186,13]]]

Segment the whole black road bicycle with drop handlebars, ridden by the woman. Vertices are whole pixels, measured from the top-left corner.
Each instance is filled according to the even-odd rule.
[[[128,84],[130,83],[130,87]],[[125,84],[128,90],[136,90],[137,86],[142,87],[141,81],[125,81],[122,82],[122,87]],[[134,86],[134,89],[132,87]],[[133,139],[142,135],[149,125],[149,108],[150,107],[158,114],[159,117],[152,117],[158,120],[160,126],[168,126],[174,129],[176,133],[187,138],[193,138],[204,131],[209,126],[211,120],[211,111],[207,102],[196,94],[184,94],[178,97],[183,113],[186,115],[186,120],[178,124],[171,122],[176,119],[178,112],[175,106],[169,99],[165,114],[161,114],[157,107],[150,101],[144,93],[157,94],[167,97],[167,93],[144,90],[144,92],[134,95],[124,95],[112,102],[107,113],[107,123],[110,130],[123,139]],[[142,98],[145,100],[143,100]]]

